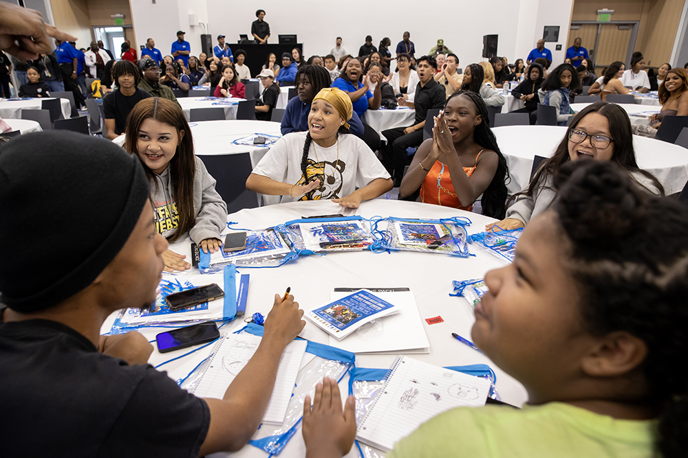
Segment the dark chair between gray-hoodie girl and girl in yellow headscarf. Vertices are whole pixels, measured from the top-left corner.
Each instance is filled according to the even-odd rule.
[[[258,207],[258,194],[246,190],[246,179],[253,170],[248,152],[211,156],[198,154],[198,157],[206,165],[208,173],[217,180],[215,190],[227,204],[228,213]]]

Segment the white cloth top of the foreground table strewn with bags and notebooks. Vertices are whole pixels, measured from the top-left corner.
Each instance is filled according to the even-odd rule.
[[[467,228],[469,233],[483,231],[486,223],[494,221],[486,216],[438,205],[380,199],[364,202],[360,208],[348,211],[330,201],[271,205],[270,207],[238,211],[228,215],[228,221],[237,222],[236,227],[260,229],[301,218],[301,216],[337,213],[359,214],[366,218],[375,215],[403,218],[466,216],[472,221],[472,224]],[[382,226],[380,225],[380,229]],[[191,254],[189,242],[188,237],[183,238],[171,244],[170,249],[188,257]],[[287,286],[291,286],[292,294],[303,310],[310,310],[325,304],[330,300],[330,293],[336,287],[405,286],[411,288],[416,297],[422,325],[430,342],[429,354],[411,354],[411,358],[417,358],[438,366],[488,364],[497,373],[496,387],[502,400],[509,404],[521,406],[527,398],[522,385],[504,374],[486,356],[456,341],[451,336],[452,332],[461,336],[470,336],[471,327],[475,321],[473,309],[465,299],[449,296],[449,293],[453,291],[452,280],[482,278],[487,271],[505,265],[488,253],[480,251],[477,247],[471,247],[471,253],[475,253],[475,256],[460,258],[431,253],[393,252],[388,254],[356,251],[301,257],[296,262],[290,262],[278,268],[239,269],[240,272],[250,273],[248,303],[244,317],[250,317],[255,312],[267,315],[274,301],[275,293],[283,294]],[[168,277],[168,275],[164,274],[164,277]],[[427,318],[438,316],[444,320],[442,323],[429,325],[425,321]],[[103,332],[109,330],[108,322],[106,321]],[[235,319],[225,325],[222,332],[223,334],[235,332],[244,327],[245,324],[243,317]],[[314,325],[307,323],[306,327],[309,326],[313,327]],[[329,341],[327,334],[319,330],[315,331],[315,333],[309,333],[310,339],[327,344]],[[162,332],[162,330],[142,330],[144,336],[149,337],[149,340],[153,339],[157,332]],[[317,339],[318,336],[320,339]],[[173,380],[186,376],[195,365],[208,356],[212,347],[209,345],[189,356],[175,360],[164,365],[161,370],[166,370]],[[179,350],[168,354],[154,351],[149,363],[160,364],[184,354],[188,350]],[[402,353],[400,352],[400,354]],[[387,369],[394,362],[396,356],[396,354],[357,354],[356,366]],[[348,378],[345,377],[340,384],[343,396],[346,396],[347,393],[347,381]],[[303,436],[299,428],[280,457],[303,457],[305,456],[304,450]],[[224,457],[227,455],[223,453],[213,456]],[[259,448],[247,445],[231,456],[265,458],[266,453]],[[347,457],[358,457],[356,447]]]

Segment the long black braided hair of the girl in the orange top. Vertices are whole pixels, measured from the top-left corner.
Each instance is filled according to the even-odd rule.
[[[472,74],[473,73],[471,73],[471,75]],[[487,189],[482,193],[482,199],[480,199],[482,212],[486,216],[503,219],[504,216],[506,216],[505,203],[507,191],[505,183],[507,179],[510,181],[509,169],[506,166],[506,159],[504,158],[502,151],[499,150],[499,145],[497,145],[497,137],[495,137],[495,134],[490,128],[490,118],[487,113],[487,106],[485,105],[485,101],[482,100],[482,97],[480,97],[480,94],[473,91],[456,91],[449,96],[447,102],[444,102],[444,108],[447,108],[449,100],[460,95],[470,99],[471,102],[473,102],[473,105],[475,105],[475,111],[478,115],[480,115],[480,117],[482,117],[482,122],[475,126],[475,129],[473,130],[473,141],[482,146],[482,148],[493,150],[497,153],[497,157],[499,158],[495,176],[493,176],[492,181],[488,185]]]

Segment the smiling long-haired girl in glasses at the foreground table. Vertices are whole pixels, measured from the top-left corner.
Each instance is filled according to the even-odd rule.
[[[515,194],[515,202],[506,210],[506,219],[487,225],[487,229],[518,229],[528,225],[531,218],[545,211],[555,198],[554,176],[567,161],[612,161],[641,185],[647,192],[664,194],[659,181],[638,168],[633,148],[630,119],[621,106],[595,102],[583,108],[566,130],[555,154],[544,159],[528,187]]]

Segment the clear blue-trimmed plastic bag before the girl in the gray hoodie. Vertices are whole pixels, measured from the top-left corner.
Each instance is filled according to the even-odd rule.
[[[246,231],[246,248],[241,251],[226,253],[222,247],[215,253],[201,250],[198,269],[201,273],[212,273],[229,264],[237,267],[277,266],[296,257],[283,233],[270,227]]]

